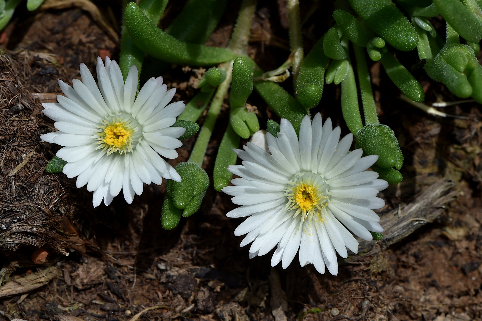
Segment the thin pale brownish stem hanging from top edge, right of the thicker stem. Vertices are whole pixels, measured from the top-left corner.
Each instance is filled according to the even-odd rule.
[[[295,52],[295,59],[293,60],[292,64],[293,84],[295,85],[301,62],[304,58],[303,40],[301,38],[300,7],[298,0],[288,0],[287,7],[291,52]]]

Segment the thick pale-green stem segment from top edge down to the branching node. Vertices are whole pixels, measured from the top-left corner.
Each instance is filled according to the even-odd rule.
[[[228,48],[237,55],[245,54],[248,50],[251,24],[257,2],[257,0],[243,0],[241,3],[238,20],[228,45]]]

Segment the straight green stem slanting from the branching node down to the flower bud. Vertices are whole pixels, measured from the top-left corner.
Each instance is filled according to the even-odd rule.
[[[233,65],[231,61],[226,68],[226,79],[224,79],[221,85],[219,85],[217,88],[213,102],[211,103],[211,107],[209,107],[208,115],[206,116],[206,120],[204,120],[204,124],[199,132],[198,139],[194,145],[194,148],[192,149],[188,162],[196,163],[199,166],[202,165],[202,160],[204,159],[204,154],[206,154],[206,148],[208,147],[209,139],[213,133],[217,115],[221,110],[221,105],[223,104],[224,97],[226,96],[231,83],[232,71]]]

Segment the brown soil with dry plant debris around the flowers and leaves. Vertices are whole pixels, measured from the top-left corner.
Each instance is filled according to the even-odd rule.
[[[180,10],[181,2],[184,3],[172,1],[161,26],[169,24],[171,15]],[[289,54],[287,13],[279,9],[282,0],[259,2],[249,53],[262,68],[270,70]],[[302,2],[305,2],[303,33],[309,49],[332,24],[333,7],[328,1]],[[209,45],[227,44],[239,3],[232,1],[228,5],[231,13],[225,15],[208,40]],[[96,4],[106,16],[110,6],[119,25],[117,2],[96,1]],[[99,50],[107,50],[113,59],[118,59],[119,45],[107,37],[88,13],[75,8],[27,13],[20,9],[22,6],[5,29],[8,37],[3,46],[14,51],[9,54],[11,59],[28,69],[27,79],[22,79],[22,73],[17,76],[26,92],[58,93],[57,78],[70,82],[72,77],[79,77],[81,62],[95,71]],[[309,13],[312,14],[308,16]],[[110,24],[114,25],[112,20]],[[56,62],[34,58],[38,52],[52,54]],[[1,64],[5,66],[5,56],[2,57]],[[414,52],[397,52],[397,57],[405,65],[417,61]],[[173,66],[164,73],[168,85],[178,88],[176,100],[188,101],[194,95],[192,85],[199,72],[202,71]],[[87,252],[82,255],[82,248],[72,246],[75,242],[62,239],[66,234],[62,233],[65,230],[60,223],[51,230],[57,233],[58,244],[32,243],[43,245],[50,253],[43,265],[53,266],[58,271],[53,275],[58,276],[26,295],[3,298],[0,320],[130,320],[142,311],[140,320],[282,321],[284,316],[288,320],[305,321],[481,320],[482,115],[475,104],[468,103],[441,108],[468,119],[428,116],[396,99],[397,89],[380,64],[372,64],[371,72],[380,122],[395,130],[405,156],[404,180],[383,191],[387,205],[380,213],[394,215],[391,210],[403,208],[433,183],[448,178],[455,182],[453,191],[459,196],[445,206],[435,222],[420,224],[423,226],[415,233],[376,255],[339,259],[337,276],[328,272],[320,275],[312,266],[300,268],[296,258],[286,270],[280,266],[272,269],[269,254],[248,259],[248,248],[239,247],[242,238],[235,237],[233,231],[241,220],[225,217],[234,205],[227,195],[213,188],[208,189],[198,213],[183,218],[176,229],[165,231],[160,224],[164,185],[145,186],[144,193],[136,196],[132,205],[127,205],[120,196],[110,206],[93,209],[91,193],[75,189],[75,180],[39,170],[31,173],[28,166],[33,165],[27,163],[18,177],[37,184],[42,180],[52,182],[65,189],[69,197],[63,196],[66,202],[74,200],[75,210],[67,207],[67,214]],[[427,103],[437,98],[456,100],[422,71],[415,75],[426,90]],[[291,90],[291,80],[282,86]],[[316,112],[320,111],[324,118],[332,117],[348,133],[340,113],[339,90],[339,86],[326,86]],[[3,95],[10,95],[0,106],[3,128],[12,127],[14,121],[23,121],[19,124],[25,128],[38,123],[35,126],[43,131],[33,131],[33,136],[27,137],[35,141],[35,135],[52,127],[51,120],[40,113],[39,100],[27,96],[26,111],[19,114],[23,118],[7,117],[18,102],[9,101],[12,93]],[[261,124],[268,117],[276,117],[256,94],[249,103],[258,108]],[[219,116],[219,127],[208,147],[204,163],[208,174],[213,172],[227,117],[226,111]],[[21,137],[23,128],[8,135]],[[1,135],[2,140],[8,138],[5,132]],[[14,155],[8,155],[10,163],[2,163],[1,175],[9,174],[22,161],[23,154],[31,152],[32,146],[39,148],[32,161],[37,164],[41,161],[42,166],[56,151],[52,144],[23,142],[30,149],[12,146],[9,153]],[[187,159],[193,142],[194,138],[185,141],[179,149],[180,157],[172,160],[172,165]],[[2,188],[0,185],[0,191]],[[31,187],[24,189],[28,188]],[[4,192],[0,193],[3,199]],[[54,221],[59,222],[62,216],[56,206]],[[69,256],[62,255],[62,250],[69,252]],[[34,251],[35,247],[23,245],[16,251],[3,252],[6,266],[13,261],[21,266],[11,276],[17,284],[22,285],[22,280],[32,273],[42,273],[44,267],[30,261]],[[145,311],[146,308],[152,309]]]

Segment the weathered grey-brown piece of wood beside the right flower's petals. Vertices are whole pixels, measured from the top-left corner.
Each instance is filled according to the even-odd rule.
[[[433,222],[445,210],[444,205],[459,195],[458,191],[449,193],[453,186],[452,180],[439,180],[416,197],[412,203],[383,215],[379,222],[385,229],[383,240],[377,242],[359,240],[359,254],[349,256],[345,261],[356,262],[374,255],[402,241],[425,224]]]

